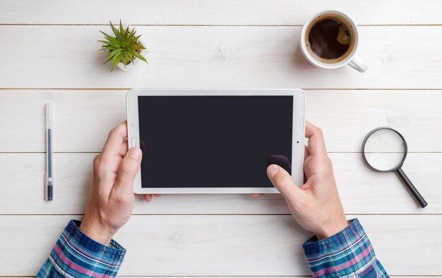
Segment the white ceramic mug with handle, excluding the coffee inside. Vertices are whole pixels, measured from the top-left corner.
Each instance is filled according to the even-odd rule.
[[[316,20],[316,18],[319,18],[324,15],[328,14],[335,14],[337,16],[340,16],[347,20],[350,23],[350,28],[354,30],[354,37],[352,37],[352,40],[354,40],[354,47],[351,50],[351,53],[348,54],[345,59],[342,59],[340,61],[336,61],[333,63],[325,63],[323,61],[320,61],[317,57],[313,56],[309,52],[309,49],[307,49],[307,44],[309,43],[308,40],[306,40],[306,31],[311,25],[311,22],[313,20]],[[304,26],[302,26],[302,32],[301,32],[301,40],[299,40],[299,46],[301,47],[301,52],[304,55],[304,57],[309,61],[313,66],[318,66],[319,68],[340,68],[345,65],[349,65],[352,68],[354,68],[357,71],[360,71],[364,73],[367,68],[369,68],[369,65],[366,64],[366,62],[359,56],[356,55],[357,48],[359,45],[359,32],[357,30],[357,25],[354,23],[352,18],[347,16],[345,13],[342,13],[340,11],[333,11],[333,10],[323,10],[318,11],[316,13],[313,13],[309,17],[309,19],[306,20],[306,23],[304,23]]]

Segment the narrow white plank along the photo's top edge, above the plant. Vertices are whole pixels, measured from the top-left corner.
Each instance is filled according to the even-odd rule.
[[[83,4],[82,4],[83,2]],[[88,8],[84,8],[87,6]],[[359,24],[442,23],[442,4],[426,1],[339,1],[333,8],[346,11]],[[301,0],[132,0],[60,1],[1,0],[1,24],[107,24],[131,20],[146,25],[302,25],[312,13],[330,8],[330,1]],[[38,12],[35,12],[38,11]],[[98,11],[98,12],[97,12]],[[29,16],[32,13],[32,16]]]

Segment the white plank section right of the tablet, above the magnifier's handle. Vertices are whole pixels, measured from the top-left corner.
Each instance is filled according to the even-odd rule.
[[[323,129],[329,152],[361,152],[366,134],[380,126],[402,133],[409,152],[442,151],[436,135],[442,133],[440,90],[308,90],[306,95],[306,119]]]

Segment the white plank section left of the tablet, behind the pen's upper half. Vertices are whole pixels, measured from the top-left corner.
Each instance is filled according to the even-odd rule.
[[[54,102],[56,152],[101,152],[109,131],[126,120],[126,90],[0,91],[0,126],[10,134],[0,136],[0,152],[46,151],[47,102]]]

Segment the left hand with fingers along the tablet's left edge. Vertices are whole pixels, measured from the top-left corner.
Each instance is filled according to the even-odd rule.
[[[109,245],[133,210],[133,179],[142,154],[139,147],[128,152],[126,137],[126,122],[120,123],[109,133],[102,153],[93,162],[90,197],[80,230],[103,245]]]

